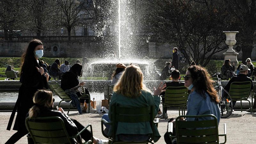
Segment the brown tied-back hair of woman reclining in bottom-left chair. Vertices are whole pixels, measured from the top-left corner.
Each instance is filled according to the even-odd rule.
[[[39,107],[52,107],[52,92],[48,90],[38,90],[33,97],[34,106],[28,111],[28,117],[37,117],[40,111]]]

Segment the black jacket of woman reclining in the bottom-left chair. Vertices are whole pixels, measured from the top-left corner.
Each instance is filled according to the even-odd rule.
[[[78,132],[76,124],[65,113],[63,114],[46,107],[39,107],[39,109],[40,111],[37,117],[59,116],[64,121],[69,136],[74,136]],[[28,114],[26,117],[28,117]]]

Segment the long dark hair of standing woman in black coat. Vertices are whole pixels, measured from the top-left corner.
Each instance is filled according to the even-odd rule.
[[[21,71],[22,73],[23,68],[27,64],[31,64],[31,61],[36,61],[35,58],[35,48],[37,45],[43,45],[43,43],[39,39],[32,39],[29,44],[26,52],[21,57]]]

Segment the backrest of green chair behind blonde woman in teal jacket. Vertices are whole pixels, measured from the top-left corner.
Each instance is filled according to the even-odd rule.
[[[112,106],[113,108],[113,119],[112,119],[112,128],[113,140],[115,140],[116,127],[118,122],[124,123],[141,123],[149,122],[153,131],[153,120],[154,116],[154,106],[142,107],[142,108],[124,108],[119,106]],[[151,135],[153,138],[153,134]]]

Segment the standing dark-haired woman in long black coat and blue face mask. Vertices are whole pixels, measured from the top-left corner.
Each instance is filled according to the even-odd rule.
[[[49,75],[44,73],[42,63],[38,60],[43,56],[44,46],[38,39],[33,39],[29,42],[27,51],[22,56],[21,72],[20,72],[20,89],[18,99],[12,110],[7,130],[11,129],[15,112],[17,116],[15,119],[13,130],[16,133],[6,142],[6,144],[13,144],[20,140],[21,137],[28,134],[25,126],[25,117],[33,103],[33,96],[37,90],[48,88]]]

